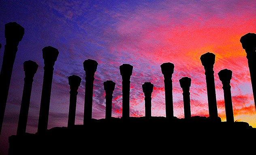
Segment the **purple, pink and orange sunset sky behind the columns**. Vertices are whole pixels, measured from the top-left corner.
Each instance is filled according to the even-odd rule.
[[[67,126],[68,76],[82,78],[77,95],[75,124],[83,124],[85,71],[83,61],[96,60],[92,118],[105,118],[103,82],[116,83],[112,116],[122,117],[122,76],[119,66],[133,66],[130,78],[130,117],[145,116],[144,82],[154,84],[152,116],[165,116],[164,78],[160,65],[174,64],[174,116],[184,118],[179,79],[191,78],[192,116],[209,116],[205,70],[200,56],[215,54],[214,77],[218,116],[226,121],[224,94],[218,72],[233,71],[230,82],[235,121],[256,127],[250,72],[241,36],[256,33],[255,0],[3,0],[0,5],[0,65],[4,53],[4,25],[17,22],[25,29],[13,66],[0,151],[16,134],[23,91],[23,62],[35,61],[28,125],[37,132],[43,83],[42,49],[59,50],[54,65],[48,128]],[[1,67],[0,66],[0,67]]]

